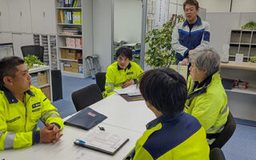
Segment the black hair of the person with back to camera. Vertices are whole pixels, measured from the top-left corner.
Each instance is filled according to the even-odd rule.
[[[182,112],[187,98],[186,80],[170,68],[148,70],[139,81],[139,90],[146,102],[164,116]]]

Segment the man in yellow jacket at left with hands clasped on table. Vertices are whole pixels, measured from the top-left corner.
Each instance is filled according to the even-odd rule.
[[[0,60],[0,150],[55,143],[62,137],[62,118],[30,78],[22,58]],[[46,124],[42,130],[39,118]]]

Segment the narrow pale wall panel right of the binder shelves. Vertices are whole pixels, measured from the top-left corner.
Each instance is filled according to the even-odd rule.
[[[93,0],[94,54],[102,71],[111,64],[111,10],[112,0]]]

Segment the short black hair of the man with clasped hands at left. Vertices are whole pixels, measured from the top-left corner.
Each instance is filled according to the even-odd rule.
[[[16,56],[2,58],[0,60],[0,85],[4,84],[4,77],[14,77],[15,73],[18,71],[16,66],[21,64],[24,64],[24,60]]]

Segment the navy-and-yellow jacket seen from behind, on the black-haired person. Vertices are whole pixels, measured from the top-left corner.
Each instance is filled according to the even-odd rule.
[[[133,160],[208,160],[206,131],[196,118],[184,112],[160,117],[147,124],[138,139]]]

